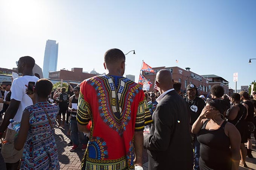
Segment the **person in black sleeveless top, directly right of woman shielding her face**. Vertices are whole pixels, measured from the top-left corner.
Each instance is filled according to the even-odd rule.
[[[247,109],[244,105],[240,104],[240,94],[233,93],[230,97],[231,102],[234,104],[230,109],[228,109],[226,117],[228,118],[228,122],[232,123],[236,126],[237,130],[241,135],[241,145],[240,145],[240,155],[241,162],[240,164],[247,168],[247,164],[245,163],[245,158],[247,155],[247,149],[244,146],[244,143],[247,142],[247,122],[244,120],[247,114]]]

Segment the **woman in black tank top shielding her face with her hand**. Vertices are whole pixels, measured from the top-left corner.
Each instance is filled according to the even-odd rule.
[[[200,142],[201,170],[238,169],[240,160],[240,133],[234,125],[224,121],[225,106],[218,100],[209,101],[192,126]],[[204,119],[208,118],[208,119]]]

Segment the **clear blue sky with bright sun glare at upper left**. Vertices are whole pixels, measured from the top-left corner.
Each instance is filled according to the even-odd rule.
[[[43,66],[46,40],[59,42],[57,70],[103,68],[110,48],[124,53],[126,74],[138,79],[142,59],[152,67],[190,67],[235,88],[256,80],[256,1],[0,0],[0,67],[30,55]],[[175,60],[179,62],[176,63]]]

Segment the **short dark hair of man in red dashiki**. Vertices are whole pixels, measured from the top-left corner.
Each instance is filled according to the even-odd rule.
[[[124,60],[125,56],[123,52],[119,49],[113,48],[105,52],[104,54],[104,62],[106,64],[116,63],[117,61]]]

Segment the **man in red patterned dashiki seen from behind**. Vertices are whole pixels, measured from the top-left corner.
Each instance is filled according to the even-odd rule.
[[[107,75],[84,80],[80,85],[77,121],[90,139],[81,169],[134,169],[142,166],[143,129],[152,123],[139,84],[122,77],[125,56],[110,49],[104,56]],[[87,129],[89,121],[92,127]]]

